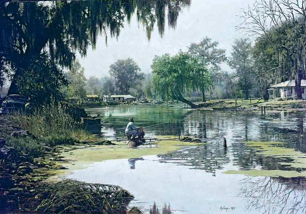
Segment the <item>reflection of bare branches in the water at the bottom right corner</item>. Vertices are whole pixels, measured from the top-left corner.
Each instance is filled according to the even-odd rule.
[[[247,200],[246,210],[264,214],[306,213],[305,178],[246,178],[239,196]]]

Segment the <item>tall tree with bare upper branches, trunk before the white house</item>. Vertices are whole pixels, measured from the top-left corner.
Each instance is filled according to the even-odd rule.
[[[301,99],[300,84],[306,68],[306,1],[259,0],[243,10],[241,18],[243,22],[237,29],[264,38],[275,46],[279,63],[275,69],[289,72],[289,78],[295,80],[297,98]]]

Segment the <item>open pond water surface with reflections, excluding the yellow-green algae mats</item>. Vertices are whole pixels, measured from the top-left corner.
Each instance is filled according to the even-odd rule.
[[[170,205],[172,213],[306,213],[306,179],[224,174],[228,170],[295,170],[279,164],[279,157],[258,155],[243,141],[284,142],[286,148],[306,152],[305,113],[203,111],[183,106],[113,106],[86,109],[100,113],[99,127],[88,129],[105,138],[124,137],[129,117],[145,129],[146,136],[192,135],[200,146],[142,157],[143,160],[104,160],[66,175],[92,183],[114,184],[129,190],[138,206],[149,212]],[[184,120],[183,120],[184,119]],[[179,120],[179,121],[178,121]],[[227,149],[222,138],[227,139]],[[282,160],[284,161],[284,160]],[[287,160],[286,160],[287,161]],[[290,161],[288,159],[288,161]],[[164,211],[164,213],[168,213]]]

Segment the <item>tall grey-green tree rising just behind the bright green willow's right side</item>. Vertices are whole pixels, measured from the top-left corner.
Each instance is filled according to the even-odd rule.
[[[205,37],[199,43],[192,43],[188,47],[188,53],[195,58],[203,67],[210,67],[206,72],[199,73],[200,91],[202,93],[202,102],[205,101],[205,91],[213,88],[213,81],[207,81],[207,76],[210,75],[210,80],[217,81],[218,67],[220,63],[226,60],[225,50],[218,49],[218,42],[212,42],[210,38]],[[209,74],[210,72],[210,74]]]

